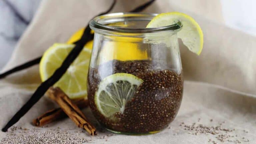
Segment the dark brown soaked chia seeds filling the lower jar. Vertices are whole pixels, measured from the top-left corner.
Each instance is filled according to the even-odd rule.
[[[183,75],[168,69],[156,69],[160,62],[150,60],[112,60],[88,74],[88,100],[99,123],[112,131],[123,133],[149,133],[160,131],[173,121],[179,110],[183,93]],[[105,77],[115,73],[128,73],[143,80],[134,96],[125,104],[123,114],[115,119],[101,114],[94,101],[98,85]]]

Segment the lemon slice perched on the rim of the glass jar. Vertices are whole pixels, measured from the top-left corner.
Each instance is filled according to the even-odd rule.
[[[162,27],[181,21],[182,29],[177,33],[188,49],[200,55],[203,49],[203,32],[199,24],[190,16],[180,12],[161,13],[155,16],[147,28]]]

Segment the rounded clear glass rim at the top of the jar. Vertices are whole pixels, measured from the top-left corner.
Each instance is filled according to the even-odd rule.
[[[172,31],[177,32],[182,28],[182,23],[177,20],[174,24],[163,26],[163,27],[154,27],[154,28],[130,28],[130,27],[116,27],[109,26],[111,20],[113,22],[125,21],[128,18],[137,18],[138,20],[150,20],[158,14],[155,13],[110,13],[97,16],[90,21],[90,27],[93,30],[104,30],[110,32],[122,32],[122,33],[155,33],[155,32],[164,32]],[[148,18],[147,18],[148,17]],[[115,21],[116,20],[116,21]]]

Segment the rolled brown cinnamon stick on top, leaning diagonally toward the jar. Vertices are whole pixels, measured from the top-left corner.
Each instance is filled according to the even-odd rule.
[[[82,111],[60,88],[50,87],[49,97],[58,103],[61,109],[73,122],[75,122],[78,127],[85,129],[90,135],[96,134],[96,128],[90,122],[88,122],[88,119],[85,117]]]

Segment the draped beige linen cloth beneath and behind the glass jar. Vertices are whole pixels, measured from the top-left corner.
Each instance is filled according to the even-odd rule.
[[[18,42],[16,49],[4,68],[8,70],[18,64],[36,58],[55,42],[64,43],[98,13],[105,11],[111,0],[44,0],[34,20]],[[146,0],[118,1],[112,12],[128,12]],[[223,25],[220,2],[205,0],[157,0],[144,12],[162,13],[180,11],[194,17],[204,32],[204,49],[200,56],[187,50],[180,42],[184,68],[184,94],[175,120],[160,133],[148,136],[113,135],[105,139],[99,135],[85,138],[92,143],[172,143],[194,144],[216,140],[216,135],[191,135],[179,126],[181,122],[214,125],[226,121],[223,127],[236,128],[238,135],[256,143],[256,38]],[[0,127],[29,99],[40,78],[38,66],[15,73],[0,80]],[[53,108],[53,102],[43,97],[16,124],[33,128],[32,119]],[[87,109],[86,111],[89,111]],[[213,122],[210,122],[213,119]],[[78,129],[70,119],[49,124],[42,130],[62,127]],[[248,133],[243,132],[248,131]],[[174,135],[176,134],[177,135]],[[0,132],[0,140],[6,136]],[[217,141],[220,143],[220,141]],[[227,141],[223,143],[228,143]]]

